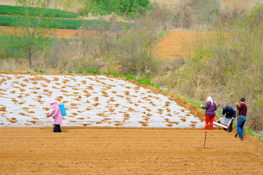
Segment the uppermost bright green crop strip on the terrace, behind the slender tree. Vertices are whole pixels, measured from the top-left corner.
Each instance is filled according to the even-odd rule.
[[[34,10],[34,7],[27,7],[29,12]],[[0,15],[13,15],[17,16],[23,12],[21,6],[11,5],[0,5]],[[73,12],[66,12],[56,9],[47,9],[44,17],[55,17],[55,18],[79,18],[79,15]]]

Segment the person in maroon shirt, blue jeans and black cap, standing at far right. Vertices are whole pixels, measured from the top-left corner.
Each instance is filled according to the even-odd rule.
[[[237,119],[237,132],[239,135],[239,138],[241,140],[244,140],[243,136],[243,130],[244,130],[244,125],[245,125],[245,120],[246,120],[246,111],[247,107],[245,105],[245,98],[240,99],[240,105],[236,103],[237,109],[239,110],[238,112],[238,119]]]

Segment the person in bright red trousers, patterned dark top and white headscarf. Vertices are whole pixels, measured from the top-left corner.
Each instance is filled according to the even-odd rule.
[[[208,124],[210,123],[210,130],[213,129],[213,120],[215,116],[216,111],[216,104],[212,101],[212,98],[209,96],[207,98],[207,104],[206,106],[200,105],[202,109],[206,109],[206,126],[205,130],[208,129]]]

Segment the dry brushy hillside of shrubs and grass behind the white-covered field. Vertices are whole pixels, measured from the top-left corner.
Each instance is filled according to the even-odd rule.
[[[83,35],[74,39],[52,39],[27,53],[2,36],[0,70],[63,70],[94,68],[137,78],[146,77],[162,88],[197,101],[208,96],[218,105],[235,108],[241,97],[248,105],[247,128],[263,130],[263,6],[246,4],[250,9],[226,6],[227,0],[178,1],[173,10],[149,1],[122,0],[122,6],[106,1],[85,0],[79,14],[112,15],[105,24],[93,28],[82,24]],[[115,2],[115,1],[114,1]],[[114,3],[113,3],[114,4]],[[118,7],[118,8],[117,8]],[[121,7],[123,9],[121,9]],[[142,7],[142,8],[138,8]],[[85,13],[84,13],[85,12]],[[112,13],[113,12],[113,13]],[[114,21],[117,15],[131,22],[129,28]],[[200,31],[190,44],[183,43],[188,56],[173,61],[158,58],[155,45],[172,30]],[[201,31],[206,31],[206,34]]]

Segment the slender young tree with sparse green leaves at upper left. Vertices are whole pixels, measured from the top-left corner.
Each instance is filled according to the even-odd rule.
[[[44,18],[50,0],[18,0],[17,2],[23,9],[14,17],[14,25],[18,27],[11,33],[3,33],[8,36],[9,47],[23,51],[32,68],[33,54],[36,51],[41,52],[47,46],[59,24],[52,29],[53,17]],[[32,6],[35,8],[32,9]]]

